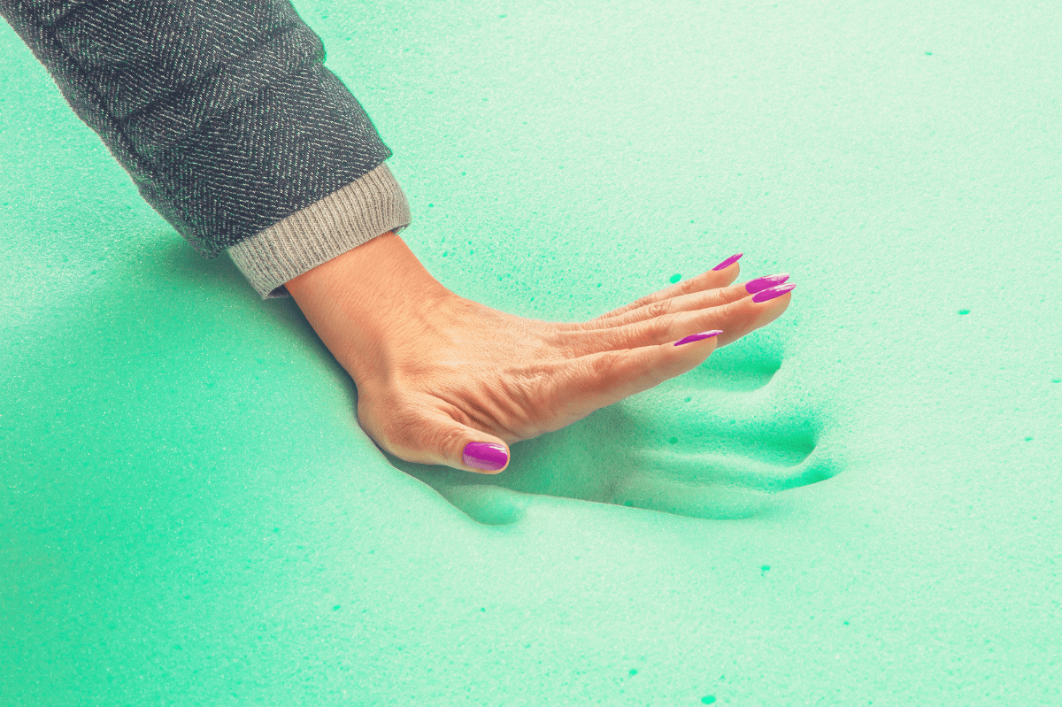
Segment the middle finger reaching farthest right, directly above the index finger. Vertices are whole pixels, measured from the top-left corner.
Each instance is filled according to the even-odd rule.
[[[674,342],[698,331],[721,329],[718,346],[725,346],[770,324],[786,310],[794,286],[769,288],[735,301],[693,311],[680,311],[618,327],[558,333],[555,345],[573,357]],[[765,299],[767,296],[775,295]],[[756,301],[756,299],[760,301]]]

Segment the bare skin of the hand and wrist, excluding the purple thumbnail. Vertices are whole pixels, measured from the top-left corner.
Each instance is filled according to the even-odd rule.
[[[700,365],[770,324],[791,293],[754,303],[739,263],[582,323],[507,314],[443,287],[392,231],[286,284],[358,386],[358,423],[418,464],[466,466],[469,442],[509,445]],[[691,344],[699,331],[723,333]],[[510,453],[511,459],[511,453]]]

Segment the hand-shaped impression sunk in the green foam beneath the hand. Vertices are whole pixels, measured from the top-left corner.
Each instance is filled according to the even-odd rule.
[[[498,476],[389,459],[479,522],[516,522],[542,496],[698,518],[746,518],[778,492],[839,469],[815,454],[812,411],[780,414],[781,349],[756,332],[702,365],[598,410],[556,432],[513,445]]]

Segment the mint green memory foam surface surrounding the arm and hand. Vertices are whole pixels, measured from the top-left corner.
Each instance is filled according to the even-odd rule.
[[[0,24],[0,704],[1062,703],[1062,4],[295,5],[455,292],[792,304],[407,464]]]

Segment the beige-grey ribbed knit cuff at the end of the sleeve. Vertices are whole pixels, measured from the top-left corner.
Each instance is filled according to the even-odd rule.
[[[226,249],[262,299],[284,283],[389,230],[410,224],[409,202],[387,162]]]

